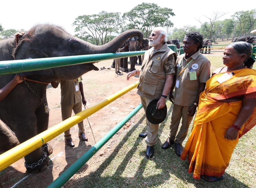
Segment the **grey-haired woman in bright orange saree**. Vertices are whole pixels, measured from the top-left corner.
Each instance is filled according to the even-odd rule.
[[[225,48],[223,64],[200,95],[193,128],[181,159],[188,172],[208,182],[223,179],[238,138],[256,124],[256,70],[251,46],[235,42]]]

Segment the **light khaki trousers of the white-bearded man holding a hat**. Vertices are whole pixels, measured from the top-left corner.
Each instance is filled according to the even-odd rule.
[[[146,113],[146,108],[147,105],[151,102],[152,100],[147,99],[145,97],[141,97],[141,104],[145,110]],[[147,118],[146,118],[146,124],[147,124],[147,137],[145,138],[146,144],[148,146],[154,146],[155,143],[157,142],[157,133],[158,133],[158,128],[159,124],[153,124],[150,123]]]

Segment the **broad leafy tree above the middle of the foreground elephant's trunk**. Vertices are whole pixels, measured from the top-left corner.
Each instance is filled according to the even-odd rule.
[[[79,32],[79,38],[103,45],[108,35],[118,32],[122,20],[119,12],[102,11],[99,14],[78,16],[73,25],[76,26],[75,31]]]

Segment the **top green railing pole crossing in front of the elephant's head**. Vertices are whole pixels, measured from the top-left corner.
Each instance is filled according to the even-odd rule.
[[[65,56],[65,57],[0,61],[0,75],[35,71],[35,70],[42,70],[42,69],[51,69],[54,67],[77,65],[82,63],[98,62],[98,61],[107,60],[107,59],[137,56],[137,55],[143,55],[145,52],[146,51],[135,51],[135,52],[90,54],[90,55],[76,55],[76,56]]]

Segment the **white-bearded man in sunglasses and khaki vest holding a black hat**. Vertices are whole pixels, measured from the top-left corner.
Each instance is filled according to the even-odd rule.
[[[162,27],[156,27],[149,35],[149,45],[153,46],[147,50],[140,70],[134,70],[127,74],[127,80],[131,76],[139,74],[139,85],[137,94],[146,111],[150,101],[158,99],[157,108],[165,107],[167,95],[173,84],[174,66],[176,53],[167,46],[167,32]],[[157,142],[159,124],[153,124],[146,119],[147,132],[139,134],[145,138],[147,148],[146,157],[154,155],[154,145]]]

